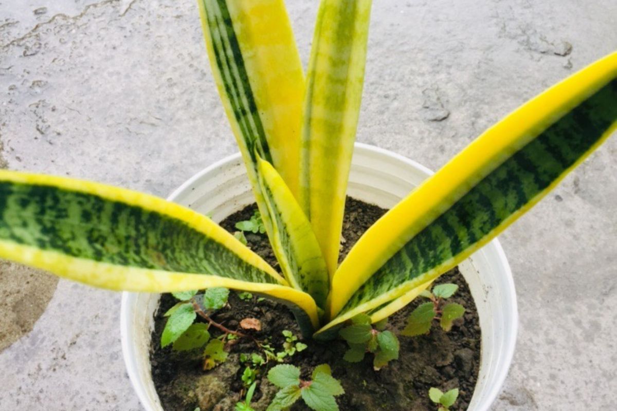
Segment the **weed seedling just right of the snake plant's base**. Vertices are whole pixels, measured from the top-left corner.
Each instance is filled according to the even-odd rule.
[[[387,365],[391,360],[399,359],[399,340],[394,333],[384,331],[386,322],[371,325],[371,317],[358,314],[352,318],[352,325],[342,328],[340,335],[349,344],[349,350],[343,357],[349,362],[360,362],[366,352],[375,354],[373,367],[375,370]]]

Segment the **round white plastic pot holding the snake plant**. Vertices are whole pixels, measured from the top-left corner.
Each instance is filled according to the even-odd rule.
[[[359,200],[391,208],[420,184],[431,171],[415,161],[356,144],[347,193]],[[169,200],[209,213],[214,221],[254,202],[239,154],[232,155],[196,174]],[[468,410],[491,407],[508,373],[514,353],[518,312],[510,266],[497,240],[484,246],[460,271],[478,307],[482,330],[478,383]],[[151,376],[149,346],[158,294],[124,293],[122,298],[122,350],[126,370],[146,411],[163,411]]]

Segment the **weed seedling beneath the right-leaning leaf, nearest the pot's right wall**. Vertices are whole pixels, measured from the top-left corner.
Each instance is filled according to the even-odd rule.
[[[407,327],[402,335],[416,336],[426,334],[431,330],[433,320],[439,320],[439,325],[445,332],[452,329],[452,322],[465,314],[465,307],[457,303],[445,304],[458,290],[456,284],[439,284],[433,287],[433,292],[425,290],[420,295],[431,300],[420,304],[407,318]]]

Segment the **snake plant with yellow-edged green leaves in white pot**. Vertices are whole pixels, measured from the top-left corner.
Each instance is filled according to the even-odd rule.
[[[0,171],[0,256],[95,287],[227,287],[305,335],[377,322],[537,203],[617,127],[617,53],[524,104],[388,211],[337,266],[370,0],[322,0],[305,78],[283,0],[199,0],[212,73],[281,273],[144,193]]]

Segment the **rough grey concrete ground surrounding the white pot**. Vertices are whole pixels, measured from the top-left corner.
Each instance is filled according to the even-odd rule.
[[[194,3],[0,0],[2,163],[165,196],[235,152]],[[317,1],[288,6],[306,61]],[[437,169],[615,51],[616,15],[614,0],[375,1],[358,140]],[[613,137],[500,238],[520,335],[494,410],[613,408],[616,159]],[[0,345],[16,340],[0,352],[0,410],[140,410],[120,295],[0,269]]]

